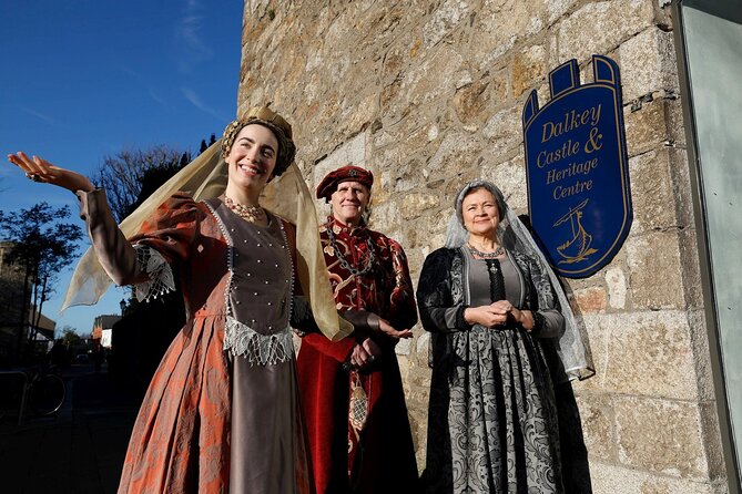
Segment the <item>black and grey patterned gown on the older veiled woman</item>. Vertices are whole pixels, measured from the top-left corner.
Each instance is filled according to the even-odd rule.
[[[533,311],[533,330],[464,320],[467,307],[501,299]],[[425,260],[417,302],[431,332],[427,492],[562,493],[553,390],[539,341],[563,331],[548,276],[519,253],[482,260],[438,249]]]

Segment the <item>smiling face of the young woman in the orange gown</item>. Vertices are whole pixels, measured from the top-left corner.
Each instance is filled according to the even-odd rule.
[[[273,176],[278,157],[278,140],[260,124],[244,126],[234,140],[225,161],[230,186],[262,191]]]

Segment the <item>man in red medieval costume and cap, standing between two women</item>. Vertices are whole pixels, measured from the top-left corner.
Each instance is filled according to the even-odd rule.
[[[335,301],[355,327],[336,342],[305,335],[297,358],[317,494],[418,492],[394,351],[417,322],[415,295],[405,251],[366,226],[373,183],[345,166],[317,186],[333,208],[319,236]]]

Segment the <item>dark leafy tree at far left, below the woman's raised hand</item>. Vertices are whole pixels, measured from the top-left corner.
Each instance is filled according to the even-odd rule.
[[[47,203],[19,212],[0,210],[0,238],[12,244],[8,261],[24,270],[20,328],[29,321],[27,301],[30,299],[35,307],[29,340],[35,338],[43,303],[54,292],[60,271],[72,263],[78,251],[82,229],[63,223],[69,216],[69,207],[54,208]],[[19,330],[19,354],[22,346],[22,330]]]

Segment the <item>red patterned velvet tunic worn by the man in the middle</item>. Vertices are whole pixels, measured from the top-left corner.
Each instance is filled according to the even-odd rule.
[[[332,225],[335,245],[327,228]],[[398,329],[417,322],[413,285],[405,253],[393,239],[365,227],[349,228],[333,218],[319,229],[337,309],[366,310]],[[368,249],[373,249],[373,266]],[[342,253],[354,275],[343,266]],[[350,336],[332,342],[319,333],[304,336],[297,358],[299,389],[308,431],[317,493],[414,493],[417,464],[395,342],[376,339],[382,356],[360,373],[343,369],[356,342]],[[368,397],[363,431],[348,420],[352,379]]]

